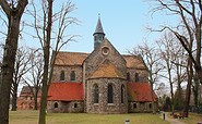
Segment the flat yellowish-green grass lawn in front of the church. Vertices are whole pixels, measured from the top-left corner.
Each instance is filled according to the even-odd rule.
[[[86,113],[48,113],[47,124],[169,124],[159,114],[86,114]],[[10,111],[10,124],[37,124],[38,111]]]

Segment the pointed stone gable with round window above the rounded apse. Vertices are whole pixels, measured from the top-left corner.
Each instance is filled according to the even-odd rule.
[[[84,60],[86,78],[88,78],[106,60],[110,61],[110,63],[114,64],[117,70],[122,72],[126,77],[126,60],[109,40],[104,39],[103,42]]]

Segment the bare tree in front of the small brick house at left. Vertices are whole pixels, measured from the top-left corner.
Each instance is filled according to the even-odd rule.
[[[41,88],[41,77],[43,77],[43,53],[38,50],[31,49],[29,52],[29,67],[27,74],[23,76],[25,85],[29,87],[31,92],[34,98],[34,110],[38,109],[38,95]]]

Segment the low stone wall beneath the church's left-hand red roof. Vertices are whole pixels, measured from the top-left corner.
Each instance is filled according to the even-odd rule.
[[[57,104],[57,106],[56,106]],[[47,112],[49,113],[81,113],[83,101],[48,101]]]

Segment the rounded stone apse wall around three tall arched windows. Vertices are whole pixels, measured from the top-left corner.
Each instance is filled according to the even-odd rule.
[[[94,85],[98,86],[99,100],[94,103]],[[114,103],[108,103],[108,85],[114,87]],[[121,86],[124,86],[123,103],[121,103]],[[87,80],[86,95],[86,112],[87,113],[128,113],[128,98],[126,80],[120,78],[98,78]]]

